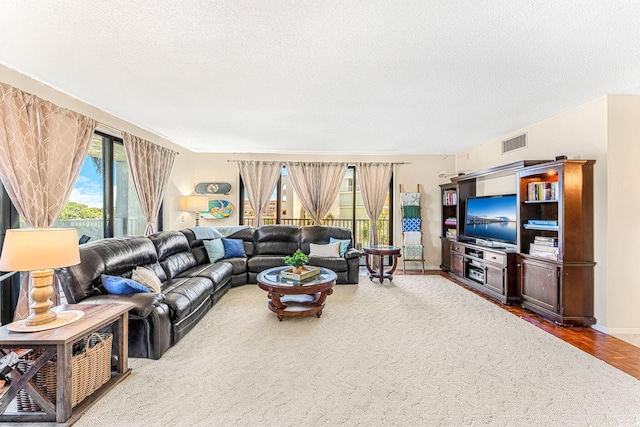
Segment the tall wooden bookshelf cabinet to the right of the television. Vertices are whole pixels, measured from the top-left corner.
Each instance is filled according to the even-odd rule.
[[[522,306],[561,325],[593,317],[593,160],[561,160],[518,172]],[[546,196],[532,186],[553,188]]]

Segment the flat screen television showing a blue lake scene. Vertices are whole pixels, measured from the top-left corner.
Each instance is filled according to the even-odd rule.
[[[515,245],[517,211],[515,194],[469,197],[466,203],[464,235]]]

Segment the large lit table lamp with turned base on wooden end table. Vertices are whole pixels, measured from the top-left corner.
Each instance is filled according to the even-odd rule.
[[[51,310],[53,269],[78,263],[80,263],[80,251],[78,250],[78,233],[75,229],[7,230],[0,256],[0,271],[31,272],[29,317],[19,321],[20,326],[26,327],[27,331],[50,329],[48,326],[56,322],[58,317],[58,313]],[[71,317],[77,320],[75,319],[77,316]],[[70,323],[66,320],[55,327]]]

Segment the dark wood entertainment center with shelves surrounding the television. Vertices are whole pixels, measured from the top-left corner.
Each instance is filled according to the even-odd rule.
[[[503,304],[564,326],[593,317],[593,160],[530,160],[459,175],[440,185],[441,269]],[[464,235],[476,181],[517,180],[517,244]],[[488,244],[488,245],[487,245]]]

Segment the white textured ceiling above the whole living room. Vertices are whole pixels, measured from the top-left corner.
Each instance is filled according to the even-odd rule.
[[[0,0],[0,63],[202,152],[457,153],[640,93],[640,2]]]

